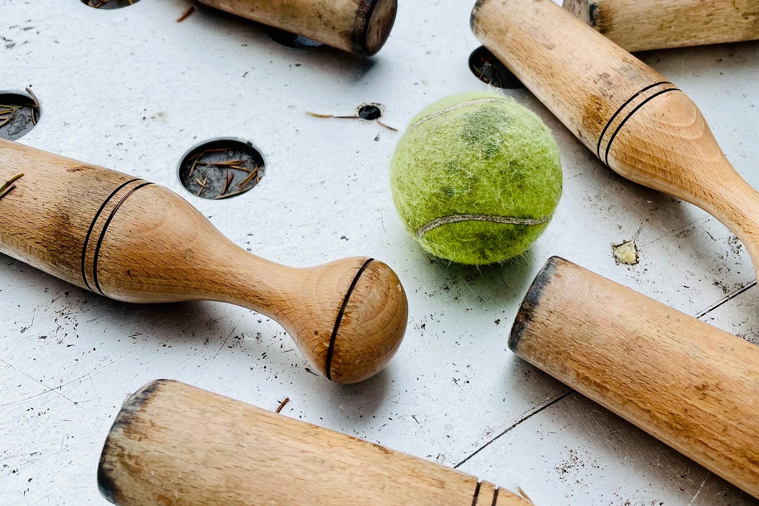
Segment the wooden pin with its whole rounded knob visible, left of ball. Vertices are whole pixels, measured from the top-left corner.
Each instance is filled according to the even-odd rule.
[[[408,306],[383,262],[269,262],[163,187],[0,139],[0,182],[19,172],[0,199],[2,253],[117,300],[218,300],[263,313],[336,382],[373,376],[398,350]]]

